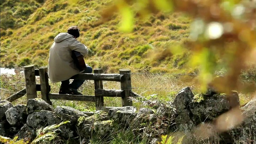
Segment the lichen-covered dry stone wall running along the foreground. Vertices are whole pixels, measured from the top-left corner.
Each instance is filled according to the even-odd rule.
[[[177,131],[185,134],[183,143],[201,143],[216,137],[226,143],[252,142],[250,140],[255,140],[253,132],[256,132],[256,98],[239,108],[238,94],[233,97],[237,100],[237,107],[232,107],[234,101],[230,103],[229,95],[210,93],[194,96],[190,87],[185,87],[178,92],[174,102],[144,99],[140,101],[147,108],[116,107],[108,112],[96,111],[92,116],[66,106],[54,109],[40,98],[17,106],[1,101],[0,132],[5,137],[18,136],[18,139],[32,141],[37,129],[70,121],[58,128],[58,135],[63,139],[79,137],[89,140],[93,136],[111,139],[110,134],[118,127],[132,128],[137,135],[146,133],[150,143],[157,143],[161,135]],[[236,113],[227,115],[233,111]],[[234,114],[242,117],[239,123],[231,122],[236,119],[232,117]],[[222,121],[223,117],[231,120]],[[228,127],[220,130],[220,123]]]

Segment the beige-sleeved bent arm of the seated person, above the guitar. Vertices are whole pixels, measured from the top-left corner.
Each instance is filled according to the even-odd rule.
[[[70,47],[71,50],[75,50],[77,52],[80,52],[84,57],[88,55],[87,47],[84,44],[80,43],[75,38],[72,38],[69,41],[69,43],[70,43],[69,47]]]

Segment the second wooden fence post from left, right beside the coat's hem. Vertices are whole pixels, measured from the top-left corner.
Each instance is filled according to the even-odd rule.
[[[39,68],[41,96],[44,101],[46,101],[47,103],[52,105],[52,102],[50,101],[50,99],[48,97],[50,89],[49,89],[49,81],[48,81],[47,71],[48,71],[47,66],[42,66]]]

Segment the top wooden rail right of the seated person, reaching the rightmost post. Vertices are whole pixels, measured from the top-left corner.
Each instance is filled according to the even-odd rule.
[[[72,76],[70,79],[79,80],[106,80],[106,81],[122,81],[123,75],[120,74],[77,74]]]

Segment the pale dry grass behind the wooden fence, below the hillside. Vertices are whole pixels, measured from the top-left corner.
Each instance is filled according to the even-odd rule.
[[[199,94],[199,87],[196,85],[196,79],[193,75],[171,75],[171,74],[131,74],[132,81],[132,91],[144,96],[146,98],[156,98],[158,100],[173,101],[178,91],[183,87],[190,86],[194,95]],[[39,84],[39,77],[36,77],[36,83]],[[2,74],[0,78],[1,85],[1,100],[15,94],[25,88],[25,79],[23,73],[16,75],[6,75]],[[50,93],[58,93],[60,82],[51,83]],[[115,81],[103,81],[104,89],[114,89],[120,90],[120,82]],[[79,91],[84,95],[94,96],[94,81],[86,80],[86,82],[79,88]],[[246,93],[243,91],[238,91],[240,98],[240,105],[248,102],[252,93]],[[37,96],[41,98],[41,92],[37,92]],[[14,105],[26,104],[26,95],[18,98],[16,101],[12,102]],[[94,111],[94,102],[81,102],[81,101],[64,101],[64,100],[52,100],[53,107],[56,106],[69,106],[80,111]],[[120,107],[121,98],[120,97],[104,97],[104,105],[110,107]],[[139,107],[139,104],[134,103],[134,106]]]

